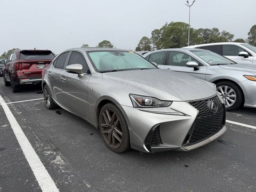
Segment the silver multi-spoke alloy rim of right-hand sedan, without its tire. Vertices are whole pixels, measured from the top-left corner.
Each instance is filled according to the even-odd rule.
[[[226,107],[234,105],[236,102],[236,92],[229,86],[219,86],[217,87],[217,92],[223,98]]]

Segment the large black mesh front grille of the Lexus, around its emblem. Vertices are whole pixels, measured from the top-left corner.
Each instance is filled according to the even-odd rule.
[[[218,106],[216,113],[211,112],[208,102],[214,101]],[[224,106],[218,96],[200,101],[189,102],[199,113],[188,145],[201,142],[219,132],[223,127]]]

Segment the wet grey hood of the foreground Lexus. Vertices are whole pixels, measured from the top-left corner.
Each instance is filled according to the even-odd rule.
[[[192,76],[163,69],[128,70],[102,73],[102,78],[160,100],[189,101],[216,94],[215,85]]]

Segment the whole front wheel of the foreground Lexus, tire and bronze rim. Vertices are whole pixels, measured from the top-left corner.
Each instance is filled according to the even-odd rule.
[[[100,133],[110,150],[122,153],[130,149],[130,136],[124,115],[112,104],[105,104],[100,110]]]

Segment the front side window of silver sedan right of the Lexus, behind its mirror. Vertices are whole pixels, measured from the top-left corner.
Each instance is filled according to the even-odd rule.
[[[199,61],[190,56],[189,54],[179,51],[170,51],[167,65],[185,67],[186,63],[189,61],[195,61],[199,65]]]

